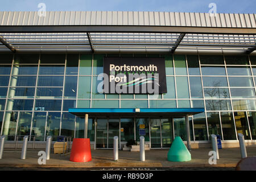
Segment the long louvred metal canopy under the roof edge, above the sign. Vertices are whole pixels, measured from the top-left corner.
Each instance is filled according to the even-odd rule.
[[[125,25],[0,26],[0,52],[255,53],[256,28]]]

